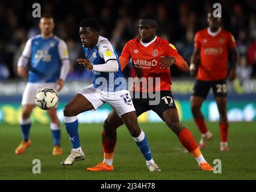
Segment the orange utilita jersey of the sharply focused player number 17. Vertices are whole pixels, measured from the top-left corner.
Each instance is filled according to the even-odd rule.
[[[128,41],[123,47],[120,58],[132,59],[133,67],[136,71],[136,77],[146,77],[146,84],[140,83],[140,92],[146,91],[170,91],[171,79],[170,69],[160,68],[159,62],[164,56],[175,57],[180,56],[173,44],[164,40],[161,37],[157,37],[151,44],[145,46],[140,41],[141,38],[134,38]],[[180,56],[181,57],[181,56]],[[182,59],[183,60],[183,59]],[[183,60],[184,61],[184,60]],[[185,61],[184,61],[185,62]],[[186,62],[185,62],[186,63]],[[121,64],[122,65],[122,64]],[[151,77],[151,78],[150,78]],[[157,84],[156,77],[160,77],[160,86]],[[149,82],[149,79],[153,79],[154,83]],[[157,86],[155,86],[157,85]],[[135,87],[133,87],[133,91]]]

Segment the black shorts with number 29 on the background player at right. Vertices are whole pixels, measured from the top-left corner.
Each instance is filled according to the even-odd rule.
[[[211,88],[213,88],[214,97],[226,97],[228,89],[225,79],[216,81],[196,80],[192,95],[206,98]]]

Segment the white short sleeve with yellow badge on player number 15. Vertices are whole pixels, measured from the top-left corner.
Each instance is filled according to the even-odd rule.
[[[101,56],[106,63],[109,60],[117,60],[114,49],[111,43],[107,40],[104,40],[99,44],[99,56]]]

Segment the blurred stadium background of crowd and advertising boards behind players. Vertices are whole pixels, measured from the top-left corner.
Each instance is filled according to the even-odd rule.
[[[218,1],[222,5],[223,28],[236,38],[240,53],[237,79],[228,82],[229,121],[256,119],[256,3],[254,0]],[[39,18],[32,17],[34,1],[0,1],[0,122],[19,124],[20,101],[26,80],[17,77],[17,59],[28,38],[39,34]],[[137,35],[137,18],[151,11],[158,19],[158,35],[173,43],[190,63],[195,32],[207,27],[207,11],[214,1],[40,1],[43,13],[55,19],[55,35],[63,38],[69,49],[71,69],[60,92],[58,116],[62,120],[63,106],[76,92],[89,85],[91,72],[76,64],[83,56],[78,24],[84,17],[96,17],[102,25],[101,35],[107,37],[120,54],[126,41]],[[189,97],[195,77],[171,69],[173,95],[182,121],[191,121]],[[125,76],[133,76],[131,64]],[[96,112],[79,116],[80,122],[102,122],[110,111],[105,104]],[[202,106],[205,118],[217,121],[217,106],[210,94]],[[92,118],[93,113],[93,118]],[[32,120],[48,124],[45,111],[36,108]],[[142,115],[140,122],[158,122],[154,112]]]

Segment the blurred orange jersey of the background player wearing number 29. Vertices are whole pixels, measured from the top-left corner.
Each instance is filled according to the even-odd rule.
[[[228,73],[228,49],[236,46],[233,35],[220,29],[210,35],[210,29],[202,29],[195,35],[195,48],[200,50],[198,80],[222,80]]]

